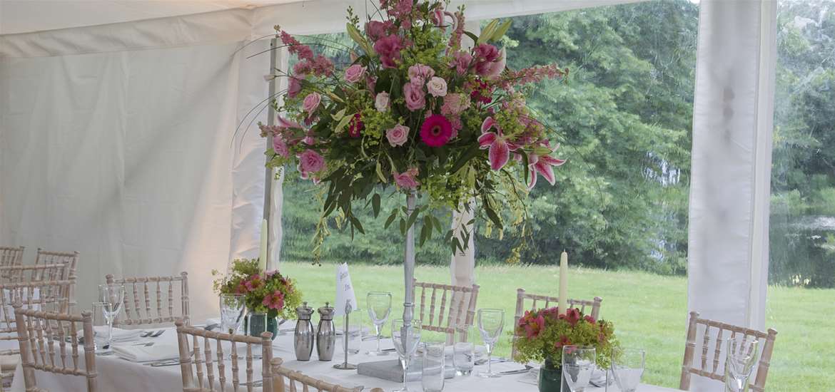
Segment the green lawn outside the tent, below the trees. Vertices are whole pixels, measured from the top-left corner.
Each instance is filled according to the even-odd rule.
[[[393,314],[402,312],[402,268],[353,264],[350,267],[357,300],[372,290],[391,291]],[[281,272],[296,279],[304,299],[318,307],[335,298],[335,266],[282,263]],[[446,283],[449,269],[419,266],[421,281]],[[476,268],[481,285],[479,308],[501,308],[513,320],[516,289],[536,294],[557,294],[555,267],[484,266]],[[620,341],[647,351],[645,382],[677,387],[686,332],[687,280],[640,272],[611,272],[599,269],[570,269],[572,298],[603,298],[600,315],[615,322]],[[767,325],[777,329],[768,390],[835,390],[831,377],[835,369],[835,289],[769,288]],[[386,325],[388,327],[388,324]],[[505,335],[496,353],[510,354],[510,337]]]

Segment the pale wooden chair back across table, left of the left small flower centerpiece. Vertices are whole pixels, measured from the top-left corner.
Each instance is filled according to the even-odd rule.
[[[105,279],[108,284],[125,286],[124,317],[114,320],[114,325],[173,323],[178,319],[189,324],[189,277],[185,272],[177,276],[121,279],[107,275]],[[180,285],[177,294],[176,285]]]

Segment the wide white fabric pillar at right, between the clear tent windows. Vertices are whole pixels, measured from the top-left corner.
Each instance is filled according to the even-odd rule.
[[[764,0],[701,2],[693,108],[689,309],[757,329],[768,274],[776,9]]]

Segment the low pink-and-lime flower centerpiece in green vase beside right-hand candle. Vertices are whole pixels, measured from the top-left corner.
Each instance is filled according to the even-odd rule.
[[[559,314],[557,308],[525,311],[514,329],[516,355],[520,363],[541,362],[539,390],[557,390],[561,380],[560,364],[563,347],[568,345],[593,346],[597,365],[607,369],[615,339],[615,325],[582,314],[579,309],[568,309]]]

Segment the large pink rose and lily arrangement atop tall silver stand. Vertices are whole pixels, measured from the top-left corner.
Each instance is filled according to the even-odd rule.
[[[514,207],[511,223],[522,224],[529,189],[539,177],[554,184],[553,167],[564,160],[553,156],[555,135],[534,117],[524,92],[568,70],[509,69],[499,43],[510,21],[493,20],[476,36],[464,29],[464,8],[447,7],[379,0],[377,12],[362,23],[348,8],[354,44],[345,50],[352,63],[340,69],[314,51],[338,43],[293,37],[276,26],[299,61],[266,76],[288,81],[282,99],[273,102],[281,113],[276,125],[260,124],[261,135],[272,138],[267,165],[296,165],[301,178],[326,186],[322,221],[338,211],[352,233],[363,233],[354,203],[371,204],[377,217],[381,193],[393,186],[424,199],[412,214],[392,209],[386,227],[399,220],[405,234],[422,224],[421,244],[446,233],[454,251],[470,234],[454,236],[428,210],[460,210],[476,199],[483,216],[501,229],[503,205]],[[320,222],[317,237],[324,232]]]

